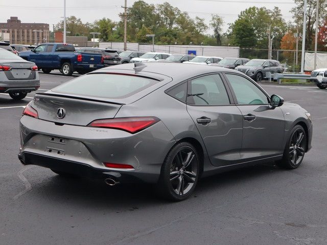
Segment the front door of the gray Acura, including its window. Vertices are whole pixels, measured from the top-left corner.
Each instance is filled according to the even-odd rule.
[[[225,74],[243,115],[242,160],[283,154],[285,119],[281,108],[271,109],[267,94],[249,79]]]

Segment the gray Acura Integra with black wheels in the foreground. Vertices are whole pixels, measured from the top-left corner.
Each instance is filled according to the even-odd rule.
[[[20,119],[22,164],[141,180],[183,200],[199,178],[253,163],[298,167],[311,116],[241,72],[193,64],[106,67],[37,93]]]

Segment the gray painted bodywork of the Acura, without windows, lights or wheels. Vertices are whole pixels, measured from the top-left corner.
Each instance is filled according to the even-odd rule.
[[[168,152],[179,141],[186,140],[197,146],[203,176],[248,163],[281,159],[290,130],[298,123],[307,127],[307,150],[311,148],[312,124],[305,115],[306,110],[298,105],[285,103],[274,109],[268,105],[241,106],[231,97],[230,105],[192,106],[166,92],[204,74],[231,72],[244,76],[238,71],[214,66],[196,66],[194,69],[195,66],[188,64],[162,65],[157,62],[147,63],[142,70],[133,68],[133,64],[126,64],[97,72],[152,76],[161,81],[130,97],[116,100],[53,91],[37,94],[31,106],[38,111],[40,119],[22,116],[19,158],[25,164],[50,168],[64,163],[61,170],[65,170],[67,162],[72,163],[76,174],[79,174],[77,166],[82,164],[118,179],[127,176],[155,183]],[[56,117],[59,107],[66,109],[66,118]],[[286,116],[287,112],[290,114]],[[248,113],[255,114],[256,119],[244,120]],[[86,127],[95,119],[134,116],[154,116],[160,121],[135,134]],[[211,118],[211,123],[207,126],[197,124],[196,119],[202,116]],[[61,144],[60,139],[66,144]],[[50,159],[52,165],[47,165],[44,159]],[[111,169],[103,162],[130,164],[134,169]]]

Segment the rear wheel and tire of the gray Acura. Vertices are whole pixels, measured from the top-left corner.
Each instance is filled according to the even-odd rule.
[[[188,142],[180,142],[169,151],[161,166],[157,193],[172,201],[185,200],[193,193],[199,174],[196,149]]]

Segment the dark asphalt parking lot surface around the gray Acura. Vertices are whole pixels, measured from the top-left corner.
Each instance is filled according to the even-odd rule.
[[[40,74],[40,92],[69,79]],[[18,103],[0,94],[0,244],[326,244],[327,90],[263,87],[312,115],[313,148],[301,166],[205,178],[180,203],[156,198],[148,185],[109,187],[22,166],[18,122],[35,93]]]

